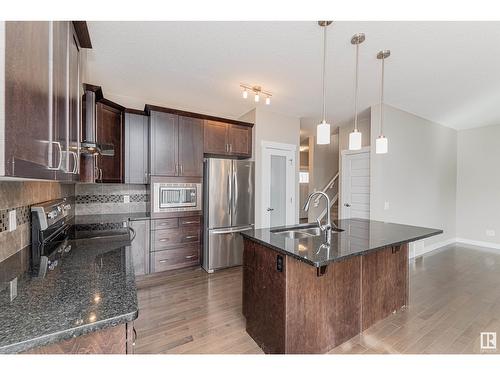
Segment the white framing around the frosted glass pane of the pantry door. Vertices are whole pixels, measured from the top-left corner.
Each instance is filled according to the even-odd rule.
[[[274,151],[274,153],[273,153]],[[271,155],[283,155],[286,156],[288,163],[286,169],[286,187],[287,187],[287,198],[290,200],[288,202],[286,211],[286,225],[295,224],[295,202],[296,202],[296,154],[297,145],[289,143],[279,143],[279,142],[269,142],[261,141],[261,152],[262,157],[262,180],[260,186],[260,192],[262,196],[261,202],[261,223],[263,228],[269,228],[271,224],[270,214],[265,207],[269,207],[271,196],[266,194],[266,191],[270,190],[271,185]],[[289,208],[289,209],[288,209]]]

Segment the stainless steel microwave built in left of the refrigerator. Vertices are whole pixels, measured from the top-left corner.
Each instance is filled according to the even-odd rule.
[[[154,182],[153,211],[201,211],[201,183]]]

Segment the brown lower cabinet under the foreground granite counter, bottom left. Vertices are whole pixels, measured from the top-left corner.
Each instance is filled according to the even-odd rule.
[[[40,346],[24,354],[134,354],[135,340],[134,323],[130,322]]]

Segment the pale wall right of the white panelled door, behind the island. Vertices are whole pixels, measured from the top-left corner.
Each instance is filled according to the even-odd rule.
[[[379,111],[379,106],[372,107],[370,218],[443,229],[442,235],[424,241],[426,247],[453,240],[457,131],[385,105],[389,152],[377,155]]]

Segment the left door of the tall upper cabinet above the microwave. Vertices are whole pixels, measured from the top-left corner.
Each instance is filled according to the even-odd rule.
[[[179,117],[152,111],[149,120],[151,175],[178,176]]]

